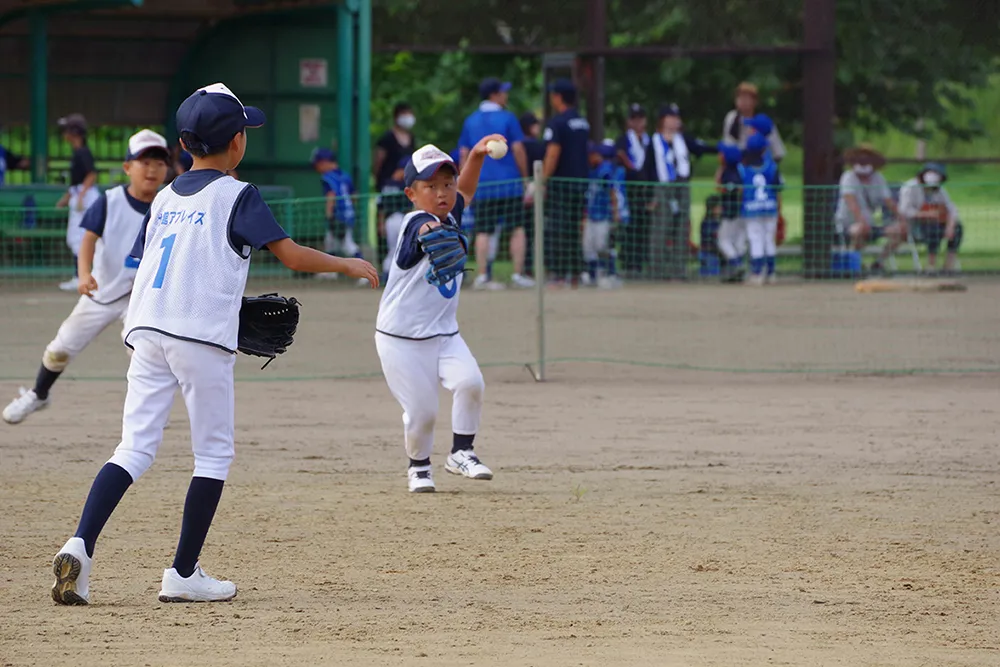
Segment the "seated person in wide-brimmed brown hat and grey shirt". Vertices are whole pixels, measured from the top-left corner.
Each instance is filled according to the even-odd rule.
[[[884,270],[883,263],[907,236],[906,220],[900,216],[892,198],[889,184],[879,171],[885,166],[885,157],[868,144],[851,148],[844,153],[849,169],[840,177],[840,200],[834,222],[837,231],[860,251],[871,241],[886,238],[879,258],[871,265],[873,273]],[[879,225],[875,214],[888,210],[895,222]]]

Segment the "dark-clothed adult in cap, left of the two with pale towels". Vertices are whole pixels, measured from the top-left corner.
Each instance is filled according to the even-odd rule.
[[[629,205],[629,224],[623,229],[622,259],[625,270],[638,273],[649,254],[650,186],[646,176],[646,152],[649,150],[646,110],[630,104],[625,131],[615,142],[618,161],[625,167],[625,196]]]

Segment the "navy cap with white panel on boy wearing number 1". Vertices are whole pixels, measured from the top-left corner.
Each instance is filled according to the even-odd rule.
[[[201,140],[206,152],[229,144],[248,127],[266,121],[257,107],[246,107],[222,83],[199,88],[177,108],[177,131],[190,132]]]

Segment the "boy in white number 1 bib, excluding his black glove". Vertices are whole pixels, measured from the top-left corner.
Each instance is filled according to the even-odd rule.
[[[228,176],[246,152],[246,129],[264,114],[217,83],[177,110],[181,144],[193,168],[153,200],[132,248],[139,260],[125,319],[133,350],[122,440],[101,468],[76,534],[56,554],[52,599],[88,604],[94,544],[134,481],[149,469],[180,388],[191,421],[194,476],[180,541],[164,570],[161,602],[211,602],[236,596],[236,585],[201,569],[208,529],[234,454],[233,366],[251,250],[267,247],[295,271],[336,271],[378,285],[375,268],[331,257],[288,238],[253,185]]]

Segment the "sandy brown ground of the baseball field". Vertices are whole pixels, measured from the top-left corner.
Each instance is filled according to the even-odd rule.
[[[114,333],[50,410],[2,425],[0,665],[1000,664],[1000,376],[667,367],[995,367],[995,286],[554,294],[552,356],[658,366],[564,362],[544,384],[518,365],[533,297],[469,295],[497,476],[439,468],[434,496],[406,493],[399,411],[369,375],[374,295],[301,291],[285,358],[239,362],[237,460],[202,555],[232,603],[156,600],[191,469],[179,405],[98,542],[94,604],[49,599],[120,434]],[[71,306],[0,295],[0,391]],[[449,430],[445,407],[438,465]]]

